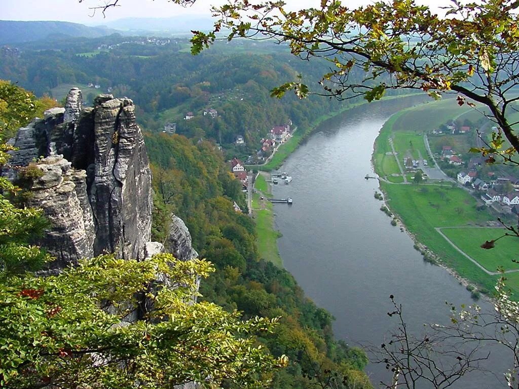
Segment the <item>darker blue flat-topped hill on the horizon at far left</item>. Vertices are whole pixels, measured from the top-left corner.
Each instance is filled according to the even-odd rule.
[[[32,42],[52,37],[97,38],[115,33],[107,27],[87,27],[79,23],[58,21],[0,20],[0,45]]]

